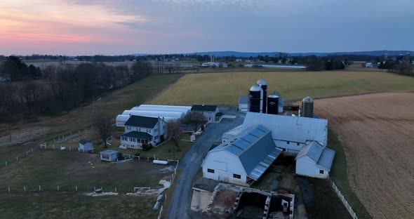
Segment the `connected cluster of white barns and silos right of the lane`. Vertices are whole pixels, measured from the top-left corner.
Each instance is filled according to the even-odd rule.
[[[309,97],[302,100],[298,117],[279,115],[283,98],[275,93],[267,96],[266,81],[260,79],[248,97],[239,98],[239,111],[248,111],[243,124],[224,133],[222,143],[208,152],[204,178],[249,186],[280,154],[295,156],[298,175],[328,177],[335,157],[326,147],[328,120],[314,118]]]

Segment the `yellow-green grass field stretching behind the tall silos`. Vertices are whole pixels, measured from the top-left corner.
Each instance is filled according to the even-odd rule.
[[[268,93],[277,90],[285,100],[309,95],[325,98],[380,91],[414,91],[414,77],[387,72],[281,71],[279,69],[225,69],[217,74],[186,74],[151,101],[151,104],[236,105],[258,79],[268,84]]]

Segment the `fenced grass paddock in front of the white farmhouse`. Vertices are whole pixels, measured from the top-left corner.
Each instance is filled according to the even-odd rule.
[[[14,192],[38,190],[90,192],[93,187],[104,191],[133,192],[133,187],[161,187],[159,180],[170,179],[172,170],[147,161],[108,163],[100,161],[98,154],[86,154],[60,150],[41,150],[22,161],[0,168],[0,191],[11,187]],[[106,189],[105,189],[106,188]]]

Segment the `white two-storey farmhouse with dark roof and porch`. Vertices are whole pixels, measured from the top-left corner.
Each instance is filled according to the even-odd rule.
[[[143,144],[155,146],[161,142],[161,135],[167,138],[166,122],[160,118],[131,116],[125,123],[119,148],[142,149]]]

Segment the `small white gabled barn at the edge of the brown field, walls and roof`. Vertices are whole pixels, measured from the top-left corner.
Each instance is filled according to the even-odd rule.
[[[312,141],[296,156],[296,174],[314,178],[328,178],[335,151]]]

